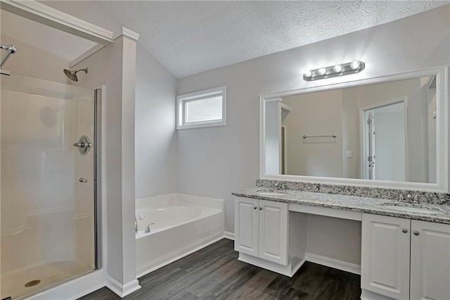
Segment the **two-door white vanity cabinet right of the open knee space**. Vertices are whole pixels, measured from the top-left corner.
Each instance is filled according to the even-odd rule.
[[[450,225],[363,214],[361,288],[392,299],[450,299]]]

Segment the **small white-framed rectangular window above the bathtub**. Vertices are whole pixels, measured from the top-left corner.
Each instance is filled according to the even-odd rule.
[[[226,124],[226,87],[215,87],[176,97],[176,129]]]

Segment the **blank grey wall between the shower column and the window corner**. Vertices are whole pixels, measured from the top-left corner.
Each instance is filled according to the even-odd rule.
[[[136,199],[176,192],[176,79],[138,44]]]

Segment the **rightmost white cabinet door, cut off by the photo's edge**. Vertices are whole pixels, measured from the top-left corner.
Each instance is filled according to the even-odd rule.
[[[411,299],[450,299],[450,225],[411,221]]]

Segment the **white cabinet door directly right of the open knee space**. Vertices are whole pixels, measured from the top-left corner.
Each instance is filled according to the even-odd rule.
[[[409,299],[411,221],[363,214],[361,288],[394,299]]]

